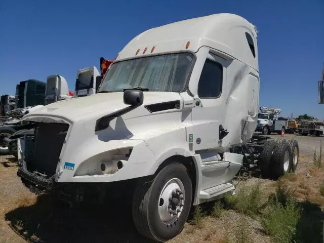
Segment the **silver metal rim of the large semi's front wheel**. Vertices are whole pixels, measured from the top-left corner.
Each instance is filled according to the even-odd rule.
[[[184,186],[178,178],[169,180],[157,201],[158,215],[165,224],[174,223],[181,215],[185,200]]]

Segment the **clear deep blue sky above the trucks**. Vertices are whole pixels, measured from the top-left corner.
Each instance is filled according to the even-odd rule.
[[[260,106],[324,119],[317,82],[324,63],[324,1],[0,1],[0,95],[20,81],[76,72],[114,59],[137,34],[160,25],[233,13],[257,26]]]

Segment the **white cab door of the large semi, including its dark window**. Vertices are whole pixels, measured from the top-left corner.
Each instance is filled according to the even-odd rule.
[[[194,151],[219,147],[226,107],[226,60],[209,53],[201,71],[192,109]],[[224,127],[224,129],[226,129]]]

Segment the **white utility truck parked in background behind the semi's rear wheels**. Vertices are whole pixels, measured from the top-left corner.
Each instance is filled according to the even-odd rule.
[[[288,125],[287,119],[279,119],[281,112],[280,108],[260,107],[261,113],[258,114],[258,126],[256,132],[262,132],[263,135],[271,134],[272,132],[281,134]]]

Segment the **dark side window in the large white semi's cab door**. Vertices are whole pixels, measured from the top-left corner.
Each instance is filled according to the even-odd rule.
[[[206,59],[198,83],[199,98],[218,98],[222,94],[223,67],[218,62]]]

